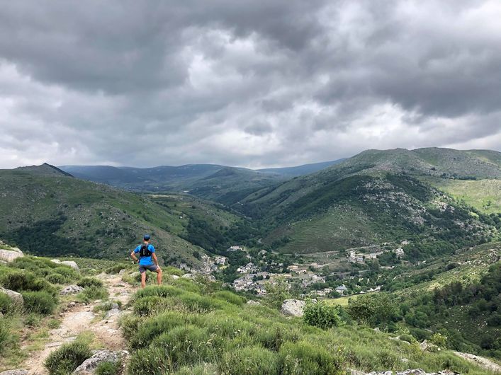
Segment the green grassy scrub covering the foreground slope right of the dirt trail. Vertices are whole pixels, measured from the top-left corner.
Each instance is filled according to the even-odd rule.
[[[235,304],[240,297],[221,289],[193,292],[203,287],[186,282],[193,284],[190,290],[184,290],[186,283],[174,287],[174,280],[167,279],[167,285],[147,287],[133,297],[134,313],[120,319],[132,354],[131,375],[206,374],[206,369],[221,374],[341,374],[347,367],[483,374],[451,352],[422,352],[415,344],[388,340],[386,333],[351,323],[320,329],[301,318],[286,318],[275,308]],[[402,358],[409,362],[403,364]]]

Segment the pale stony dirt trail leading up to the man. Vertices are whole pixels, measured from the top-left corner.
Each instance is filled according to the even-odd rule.
[[[118,275],[101,274],[97,276],[108,289],[111,301],[120,301],[122,305],[128,303],[130,296],[135,292],[135,288],[124,283]],[[23,364],[22,368],[28,370],[30,375],[48,374],[43,366],[43,362],[53,350],[66,342],[71,342],[80,333],[91,332],[96,340],[107,350],[126,350],[127,345],[118,328],[118,315],[101,319],[101,313],[94,313],[94,306],[99,303],[89,305],[69,304],[67,311],[62,313],[60,328],[50,330],[50,338],[43,350],[32,352],[30,357]]]

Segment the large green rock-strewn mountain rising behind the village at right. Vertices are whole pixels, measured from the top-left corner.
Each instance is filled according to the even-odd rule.
[[[429,185],[430,178],[499,180],[499,160],[497,151],[368,150],[252,192],[235,209],[263,220],[264,243],[283,252],[344,254],[412,239],[422,243],[413,257],[423,258],[500,236],[500,220]]]

